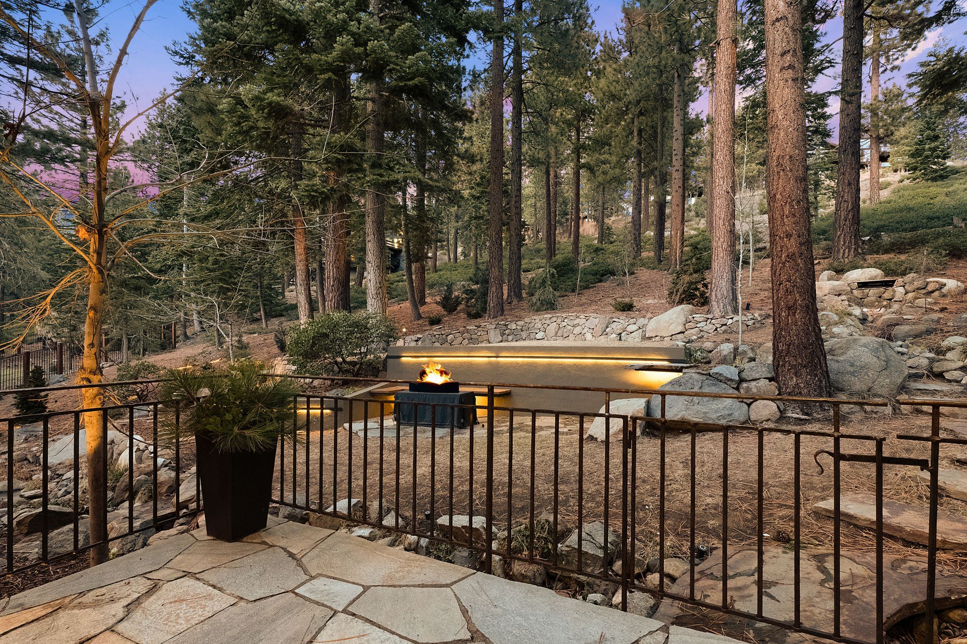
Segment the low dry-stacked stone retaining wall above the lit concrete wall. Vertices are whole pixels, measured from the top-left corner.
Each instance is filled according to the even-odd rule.
[[[518,322],[484,322],[461,329],[441,329],[422,335],[408,335],[399,344],[404,347],[459,347],[541,340],[692,340],[712,333],[738,331],[736,318],[713,318],[691,313],[690,306],[679,306],[654,318],[611,317],[600,315],[551,314]],[[767,315],[750,313],[742,317],[746,328],[761,326]],[[649,326],[670,332],[648,335]]]

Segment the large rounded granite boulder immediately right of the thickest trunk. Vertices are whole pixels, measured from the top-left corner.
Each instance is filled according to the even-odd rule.
[[[903,358],[882,338],[838,338],[826,343],[830,383],[837,393],[895,398],[907,378]]]

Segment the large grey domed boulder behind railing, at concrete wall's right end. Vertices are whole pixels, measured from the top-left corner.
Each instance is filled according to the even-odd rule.
[[[702,374],[685,374],[673,380],[668,380],[659,389],[719,394],[739,393],[717,379]],[[656,418],[661,415],[661,401],[657,394],[652,396],[652,402],[648,405],[648,415]],[[745,425],[748,422],[748,406],[736,398],[667,396],[665,398],[665,418],[723,425]]]

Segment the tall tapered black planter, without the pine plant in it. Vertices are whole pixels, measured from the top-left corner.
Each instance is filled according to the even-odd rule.
[[[272,498],[276,445],[265,452],[220,452],[195,436],[205,530],[221,541],[238,541],[264,530]]]

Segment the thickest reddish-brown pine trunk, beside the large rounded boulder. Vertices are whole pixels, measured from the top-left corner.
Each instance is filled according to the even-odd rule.
[[[781,394],[828,396],[830,377],[816,317],[809,237],[801,31],[796,0],[766,0],[766,195],[775,318],[773,365]]]

